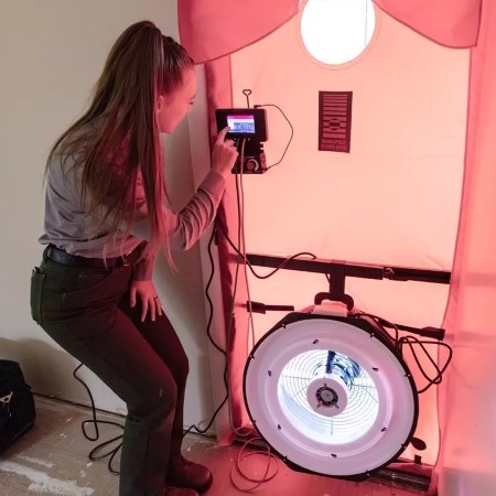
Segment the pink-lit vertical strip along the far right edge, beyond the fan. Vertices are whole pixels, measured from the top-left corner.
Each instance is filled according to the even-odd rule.
[[[453,362],[440,387],[440,496],[496,494],[496,3],[472,51],[465,179],[444,326]]]

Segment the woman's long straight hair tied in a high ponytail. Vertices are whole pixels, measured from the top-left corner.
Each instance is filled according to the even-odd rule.
[[[182,84],[184,71],[193,64],[186,51],[152,22],[130,25],[110,50],[89,108],[57,139],[46,162],[47,172],[55,154],[75,158],[83,166],[85,209],[96,216],[105,212],[103,223],[114,236],[122,224],[129,234],[141,173],[151,226],[147,252],[163,246],[169,261],[166,219],[161,215],[168,194],[155,105],[159,95]]]

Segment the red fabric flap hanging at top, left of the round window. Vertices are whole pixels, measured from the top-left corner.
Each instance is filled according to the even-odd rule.
[[[260,40],[299,11],[299,0],[177,0],[181,44],[197,64]]]

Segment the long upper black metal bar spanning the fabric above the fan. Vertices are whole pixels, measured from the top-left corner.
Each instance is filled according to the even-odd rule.
[[[247,254],[247,260],[252,266],[281,267],[287,270],[327,273],[333,277],[337,270],[344,270],[344,276],[362,279],[390,279],[392,281],[422,281],[449,284],[451,272],[445,270],[418,269],[412,267],[377,266],[370,263],[354,263],[343,260],[325,259],[290,259],[272,255]],[[339,269],[338,269],[339,268]]]

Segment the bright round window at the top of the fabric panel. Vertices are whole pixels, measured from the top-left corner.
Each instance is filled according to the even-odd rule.
[[[301,15],[301,35],[319,62],[339,65],[364,52],[374,34],[371,0],[309,0]]]

